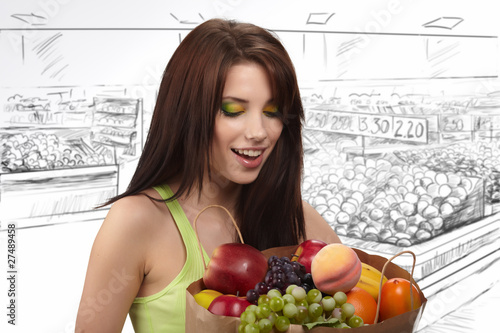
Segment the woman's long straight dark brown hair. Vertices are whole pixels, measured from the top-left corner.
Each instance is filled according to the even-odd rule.
[[[260,250],[305,236],[300,192],[304,118],[293,64],[279,40],[248,23],[212,19],[193,29],[171,57],[151,126],[128,189],[107,204],[180,177],[171,199],[201,191],[210,171],[214,122],[228,70],[241,62],[268,73],[283,131],[257,179],[243,185],[236,220],[245,243]]]

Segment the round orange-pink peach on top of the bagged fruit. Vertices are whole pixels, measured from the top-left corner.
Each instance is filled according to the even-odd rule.
[[[333,295],[348,292],[359,281],[361,261],[356,252],[344,244],[328,244],[318,251],[311,264],[311,275],[320,291]]]

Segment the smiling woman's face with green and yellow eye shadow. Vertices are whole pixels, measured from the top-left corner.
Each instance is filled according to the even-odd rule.
[[[230,68],[215,118],[211,167],[238,184],[253,182],[281,135],[283,122],[267,73],[255,63]]]

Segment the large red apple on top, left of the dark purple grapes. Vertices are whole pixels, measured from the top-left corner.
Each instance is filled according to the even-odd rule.
[[[208,289],[244,296],[264,281],[266,273],[267,259],[259,250],[247,244],[227,243],[215,248],[203,282]]]

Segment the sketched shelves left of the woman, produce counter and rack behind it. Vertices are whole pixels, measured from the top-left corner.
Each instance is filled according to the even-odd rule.
[[[39,94],[4,104],[2,229],[102,219],[108,208],[95,207],[118,193],[119,162],[142,135],[141,100]]]

